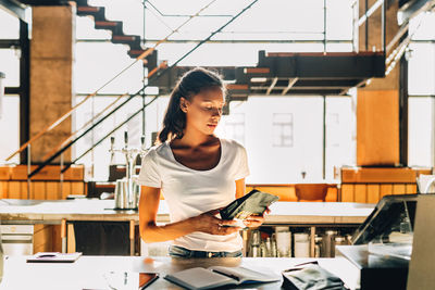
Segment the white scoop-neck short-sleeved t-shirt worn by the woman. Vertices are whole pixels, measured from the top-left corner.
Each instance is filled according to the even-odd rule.
[[[249,175],[243,146],[220,139],[221,159],[209,171],[191,169],[174,157],[169,142],[151,148],[142,160],[138,182],[161,188],[171,223],[227,205],[235,200],[236,180]],[[195,231],[173,242],[189,250],[234,252],[243,248],[240,235],[226,236]]]

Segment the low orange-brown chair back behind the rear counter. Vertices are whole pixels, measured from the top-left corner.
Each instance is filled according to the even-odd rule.
[[[295,191],[298,201],[337,201],[336,185],[298,184],[295,185]]]

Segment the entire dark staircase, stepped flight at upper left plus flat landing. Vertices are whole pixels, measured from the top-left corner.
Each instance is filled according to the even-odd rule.
[[[67,4],[64,0],[22,0],[27,4]],[[145,52],[140,36],[126,35],[123,23],[105,18],[103,7],[92,7],[87,0],[74,0],[78,16],[91,16],[96,29],[112,31],[113,43],[129,47],[128,55],[137,59]],[[158,53],[153,51],[144,60],[149,71],[157,67]],[[160,94],[167,94],[177,79],[192,67],[174,66],[164,76],[150,79],[149,86],[159,87]],[[346,94],[352,87],[363,86],[372,77],[385,76],[384,52],[319,52],[293,53],[259,51],[253,67],[208,67],[217,71],[228,81],[229,101],[245,100],[249,94],[264,96],[337,96]]]

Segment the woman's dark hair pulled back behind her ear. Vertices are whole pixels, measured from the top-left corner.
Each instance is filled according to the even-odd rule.
[[[186,114],[179,108],[179,99],[183,97],[191,101],[194,96],[213,87],[225,89],[223,80],[217,74],[202,67],[196,67],[185,73],[171,93],[163,119],[163,129],[159,133],[157,142],[163,143],[167,139],[183,138]]]

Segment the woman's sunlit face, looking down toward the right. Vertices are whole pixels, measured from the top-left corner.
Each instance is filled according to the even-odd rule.
[[[220,87],[204,89],[194,96],[191,101],[182,98],[181,109],[186,113],[186,129],[212,135],[221,119],[224,104],[224,93]]]

